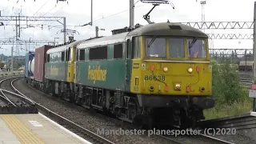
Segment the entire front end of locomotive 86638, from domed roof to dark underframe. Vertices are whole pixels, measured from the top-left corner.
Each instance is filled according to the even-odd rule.
[[[172,107],[185,111],[183,119],[203,119],[202,110],[214,107],[207,35],[168,22],[148,28],[139,36],[141,54],[133,59],[131,92],[140,106]]]

